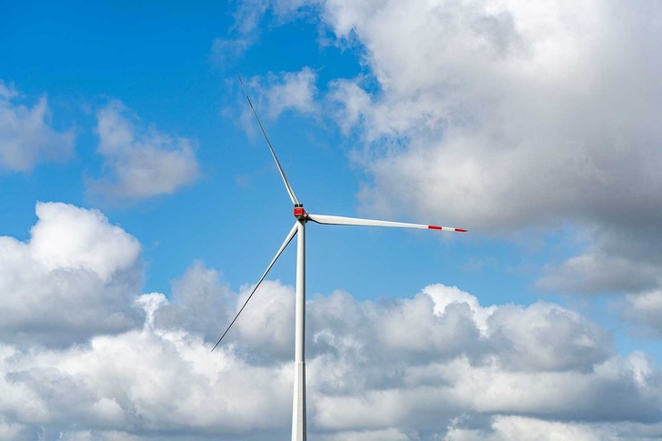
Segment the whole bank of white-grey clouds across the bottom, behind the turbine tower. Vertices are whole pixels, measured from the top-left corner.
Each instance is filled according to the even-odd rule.
[[[135,297],[135,238],[95,210],[36,211],[30,241],[0,241],[0,292],[12,293],[0,306],[0,435],[288,435],[292,286],[266,281],[210,353],[251,286],[234,293],[196,262],[171,298]],[[432,285],[379,302],[316,295],[306,308],[311,437],[661,433],[658,366],[643,353],[617,355],[600,326],[562,306],[481,306]],[[108,325],[108,317],[125,320]],[[54,345],[43,345],[48,338]]]

